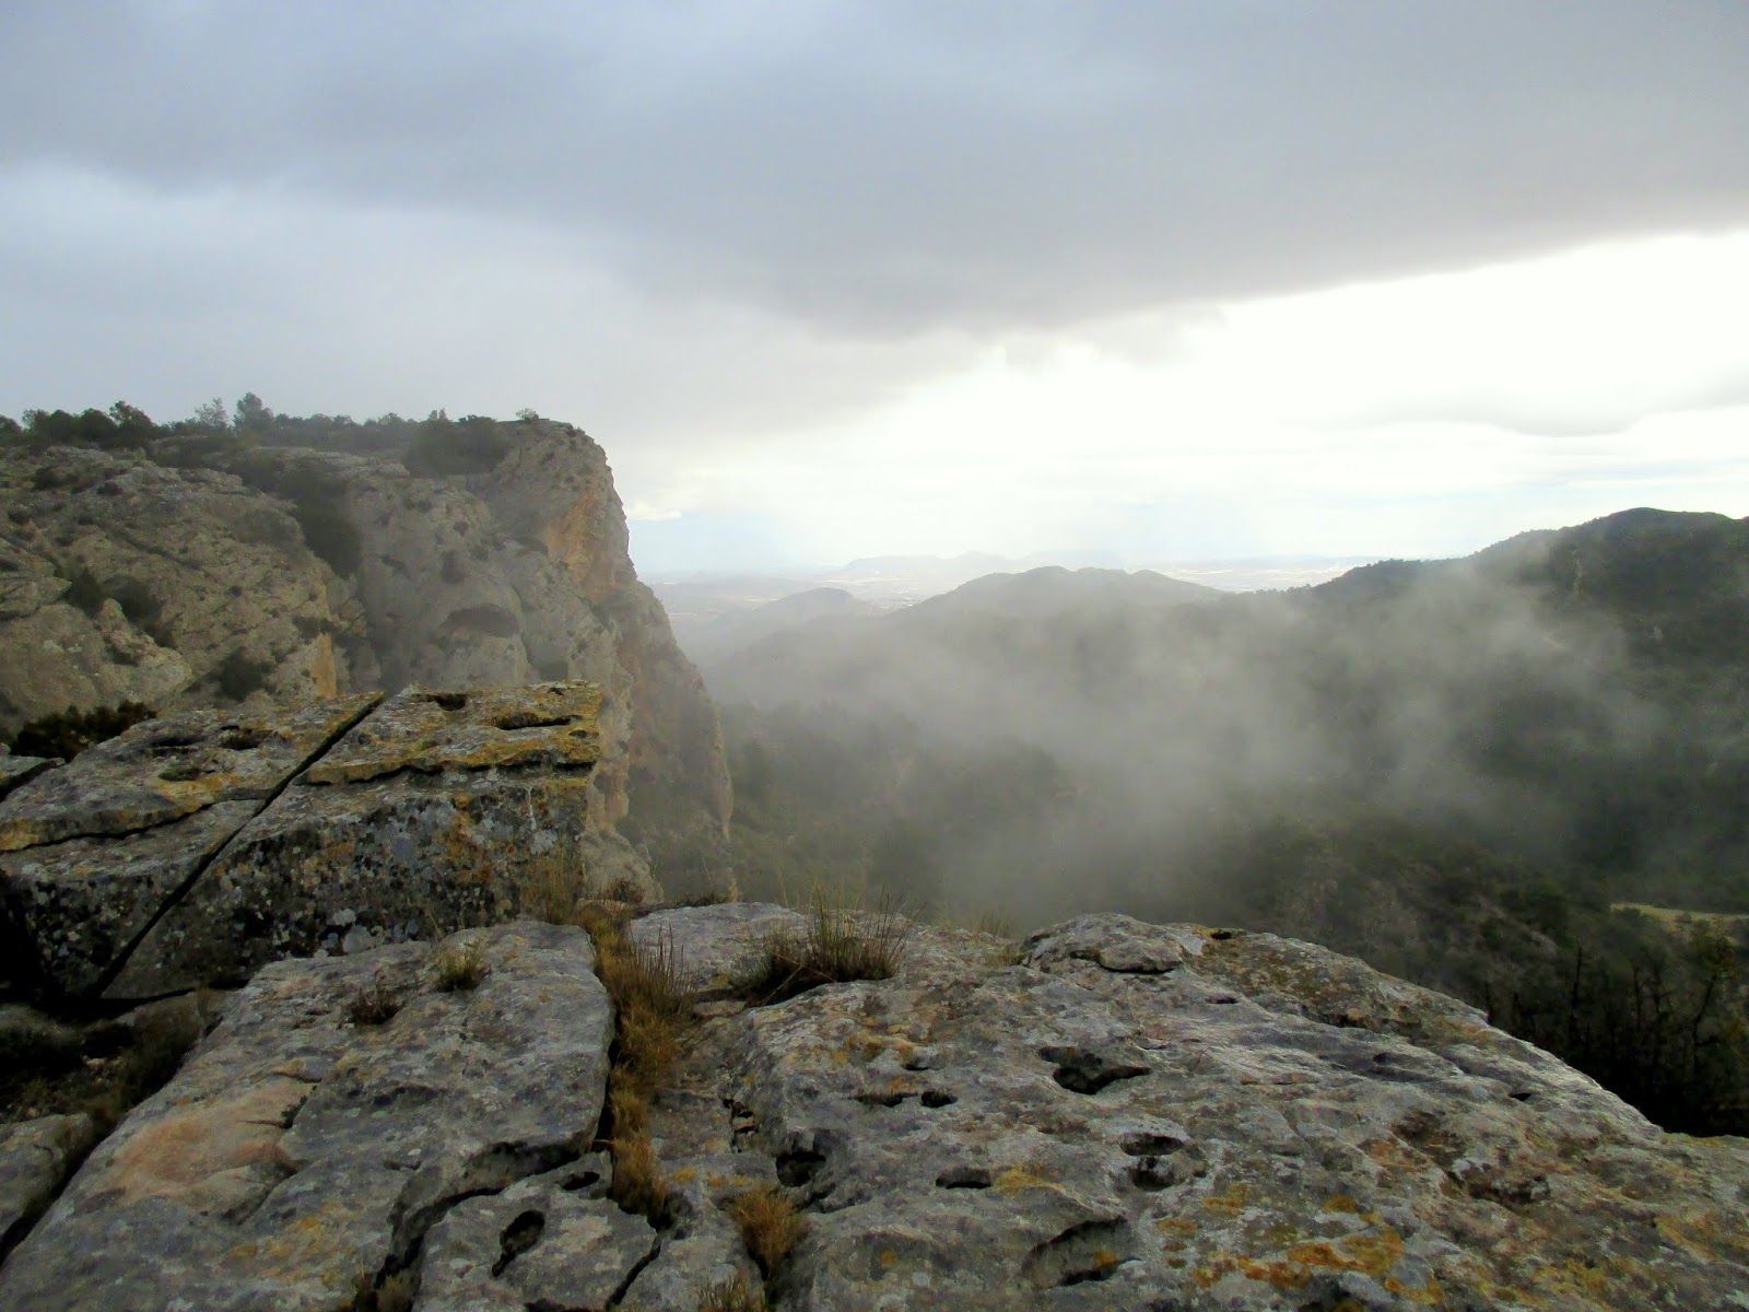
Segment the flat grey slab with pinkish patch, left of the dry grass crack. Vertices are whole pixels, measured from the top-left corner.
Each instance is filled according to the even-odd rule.
[[[436,952],[469,939],[486,973],[456,992],[425,945],[264,969],[14,1251],[0,1309],[353,1307],[463,1200],[581,1162],[612,1037],[588,936]]]

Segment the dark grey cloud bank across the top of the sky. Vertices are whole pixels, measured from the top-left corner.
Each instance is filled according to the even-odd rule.
[[[14,3],[0,159],[532,222],[840,334],[1749,220],[1749,5]]]

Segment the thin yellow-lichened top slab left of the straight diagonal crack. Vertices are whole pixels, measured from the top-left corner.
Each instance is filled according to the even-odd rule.
[[[378,696],[276,714],[189,710],[135,724],[0,803],[0,852],[131,834],[224,801],[264,801]]]

